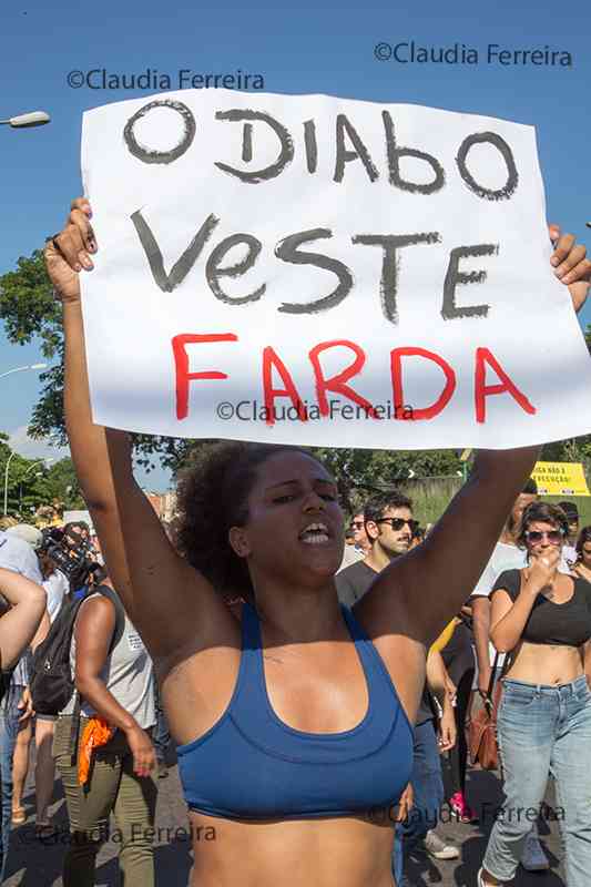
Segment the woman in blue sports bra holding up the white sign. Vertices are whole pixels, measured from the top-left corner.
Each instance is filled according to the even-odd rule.
[[[424,544],[353,611],[334,581],[335,481],[295,448],[214,447],[181,491],[180,557],[133,479],[128,436],[92,425],[79,284],[96,251],[90,217],[75,201],[45,251],[63,302],[68,432],[179,743],[194,884],[390,887],[426,651],[476,585],[538,449],[481,452]],[[582,305],[584,249],[563,237],[554,257]],[[244,600],[240,619],[228,597]]]

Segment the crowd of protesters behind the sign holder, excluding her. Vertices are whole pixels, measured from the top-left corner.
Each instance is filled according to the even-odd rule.
[[[369,497],[346,531],[336,573],[340,604],[347,611],[355,608],[376,578],[422,544],[429,530],[419,526],[411,500],[401,492]],[[169,536],[181,547],[170,529]],[[573,502],[547,504],[528,480],[475,589],[427,656],[410,778],[393,816],[397,885],[409,884],[408,860],[417,850],[440,860],[459,857],[459,848],[437,829],[445,809],[461,823],[478,822],[466,796],[466,728],[470,710],[489,690],[493,667],[503,684],[498,741],[505,805],[541,809],[552,776],[565,812],[567,883],[582,883],[591,853],[585,792],[591,693],[584,670],[590,579],[591,527],[579,527]],[[65,797],[72,840],[64,854],[64,885],[94,884],[95,856],[111,813],[121,834],[125,884],[153,883],[147,839],[157,795],[153,776],[167,775],[170,736],[152,659],[108,575],[100,542],[83,522],[43,533],[11,526],[0,531],[0,591],[2,871],[10,827],[27,820],[22,795],[34,736],[39,838],[55,828],[48,818],[55,768]],[[33,711],[34,651],[60,613],[72,628],[68,660],[73,692],[55,713]],[[506,652],[510,656],[503,662]],[[591,669],[589,674],[591,680]],[[510,880],[519,864],[532,871],[549,867],[536,824],[503,816],[493,825],[479,885]]]

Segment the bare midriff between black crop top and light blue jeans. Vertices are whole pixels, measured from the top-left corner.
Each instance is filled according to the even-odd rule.
[[[559,644],[530,644],[522,641],[505,677],[528,684],[558,686],[583,674],[582,648]]]

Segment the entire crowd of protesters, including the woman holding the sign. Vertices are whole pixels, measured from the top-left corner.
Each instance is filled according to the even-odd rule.
[[[572,503],[538,500],[539,448],[478,452],[425,530],[401,492],[370,497],[344,547],[336,479],[309,452],[214,445],[180,482],[171,532],[134,480],[128,436],[92,422],[79,281],[98,251],[91,216],[75,201],[45,259],[96,540],[80,523],[59,539],[0,531],[0,878],[10,826],[27,815],[34,732],[35,827],[40,838],[54,827],[57,768],[65,887],[95,883],[111,814],[125,885],[151,887],[153,777],[170,725],[197,836],[193,885],[403,887],[417,849],[458,855],[438,834],[442,805],[460,822],[478,814],[466,722],[496,675],[507,807],[539,807],[553,778],[568,885],[582,887],[591,528],[579,533]],[[580,308],[584,249],[556,241],[554,273]],[[520,861],[548,865],[531,823],[513,818],[495,824],[478,887],[511,879]],[[200,843],[214,825],[218,840]]]

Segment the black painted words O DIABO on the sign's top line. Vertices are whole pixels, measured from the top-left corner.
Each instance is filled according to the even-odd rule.
[[[135,135],[135,125],[140,120],[145,119],[155,109],[170,109],[176,111],[182,119],[183,132],[179,143],[171,150],[162,151],[139,142]],[[227,163],[216,162],[215,166],[223,173],[238,179],[245,184],[261,184],[277,177],[293,162],[295,157],[294,143],[296,133],[289,130],[265,111],[254,111],[251,109],[230,109],[227,111],[216,111],[215,119],[221,123],[242,125],[242,161],[248,164],[246,169],[231,166]],[[417,147],[400,145],[396,123],[388,111],[381,112],[384,128],[384,140],[387,157],[387,173],[389,184],[412,194],[435,194],[446,185],[446,171],[440,161],[426,151]],[[251,169],[255,162],[253,149],[254,126],[267,128],[267,135],[273,134],[278,143],[277,157],[273,163],[261,169]],[[302,144],[306,157],[306,169],[309,175],[318,173],[318,139],[316,132],[316,121],[314,119],[303,121]],[[170,164],[182,157],[193,144],[195,137],[196,123],[193,113],[183,102],[170,99],[156,99],[143,105],[133,114],[123,130],[123,140],[130,153],[142,163]],[[369,149],[364,143],[361,134],[347,114],[337,114],[335,120],[334,137],[335,147],[335,169],[333,181],[340,183],[345,179],[347,164],[360,162],[367,173],[370,183],[380,177],[380,171],[370,155]],[[326,143],[326,139],[323,137]],[[322,143],[320,143],[322,144]],[[488,145],[491,151],[500,157],[507,171],[505,184],[501,187],[491,188],[479,182],[473,171],[470,170],[470,151],[475,145]],[[430,167],[431,179],[426,183],[417,183],[405,179],[400,169],[400,161],[411,157],[420,161]],[[496,132],[476,132],[467,135],[460,143],[456,154],[456,166],[465,185],[481,200],[501,201],[510,200],[514,194],[519,173],[510,145]]]

